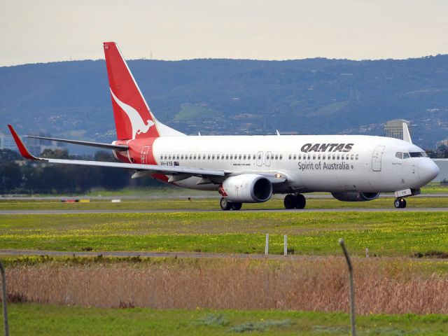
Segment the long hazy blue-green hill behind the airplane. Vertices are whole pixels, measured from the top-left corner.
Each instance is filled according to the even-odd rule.
[[[133,60],[160,121],[188,134],[378,134],[412,121],[414,142],[448,135],[448,55],[405,60]],[[112,141],[104,60],[0,67],[0,132]]]

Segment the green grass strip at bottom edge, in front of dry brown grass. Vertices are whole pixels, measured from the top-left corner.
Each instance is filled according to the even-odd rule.
[[[99,309],[11,304],[11,335],[348,335],[349,316],[301,311]],[[444,315],[370,315],[358,335],[447,335]]]

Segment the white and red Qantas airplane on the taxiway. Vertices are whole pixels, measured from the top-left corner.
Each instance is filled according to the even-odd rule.
[[[8,125],[21,155],[41,162],[116,167],[165,183],[221,195],[223,210],[267,202],[286,194],[286,209],[304,209],[304,193],[329,192],[346,202],[372,201],[395,193],[395,208],[405,197],[435,179],[439,168],[412,144],[403,123],[403,140],[365,135],[187,136],[158,121],[149,109],[114,42],[104,43],[117,140],[112,144],[30,137],[113,151],[120,162],[60,160],[31,155]]]

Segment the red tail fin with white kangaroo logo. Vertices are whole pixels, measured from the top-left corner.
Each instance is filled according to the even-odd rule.
[[[184,135],[153,116],[115,42],[104,42],[104,55],[118,139]]]

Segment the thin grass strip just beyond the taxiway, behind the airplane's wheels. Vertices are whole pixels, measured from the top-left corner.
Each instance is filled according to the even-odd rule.
[[[81,197],[82,198],[82,197]],[[441,208],[448,207],[445,197],[434,198],[410,198],[407,207],[413,208]],[[391,209],[393,210],[393,199],[381,198],[371,202],[340,202],[333,199],[311,199],[307,200],[307,209]],[[11,201],[0,200],[1,210],[216,210],[221,211],[216,199],[191,198],[176,200],[123,200],[119,203],[110,201],[92,200],[88,203],[62,203],[59,201]],[[244,204],[243,209],[284,209],[282,199],[273,199],[269,202],[259,204]]]

